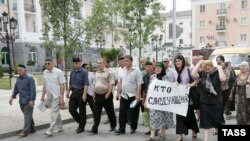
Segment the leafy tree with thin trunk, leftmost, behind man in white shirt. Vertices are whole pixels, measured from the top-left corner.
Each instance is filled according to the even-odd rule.
[[[61,44],[61,47],[63,47],[67,88],[68,60],[82,48],[81,36],[84,28],[80,22],[81,3],[78,0],[40,0],[40,4],[45,16],[42,32],[44,35],[53,32],[53,40],[45,39],[45,42],[47,42],[45,46],[48,45],[46,48],[52,52],[54,48],[60,47]]]

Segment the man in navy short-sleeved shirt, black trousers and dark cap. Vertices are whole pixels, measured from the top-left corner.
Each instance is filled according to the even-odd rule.
[[[78,57],[73,58],[74,70],[70,74],[69,89],[69,112],[74,120],[79,124],[76,133],[84,132],[86,125],[86,102],[88,91],[88,73],[81,68],[81,60]],[[72,91],[71,95],[70,91]],[[79,108],[79,112],[77,109]]]

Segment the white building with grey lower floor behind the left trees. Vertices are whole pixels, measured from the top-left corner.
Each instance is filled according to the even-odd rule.
[[[79,11],[79,19],[71,19],[73,25],[77,25],[78,22],[82,22],[84,18],[91,15],[93,7],[93,0],[84,0],[81,3],[81,8]],[[42,28],[43,23],[46,19],[42,15],[42,9],[39,0],[0,0],[0,13],[7,12],[10,17],[17,19],[17,29],[15,31],[15,42],[13,46],[10,47],[11,60],[8,59],[8,48],[5,43],[0,43],[0,51],[3,55],[3,60],[1,65],[4,70],[9,69],[9,61],[11,61],[12,67],[15,64],[25,64],[28,61],[35,61],[34,66],[28,66],[29,71],[42,71],[44,66],[44,60],[51,56],[50,52],[46,52],[42,47]],[[8,12],[9,11],[9,12]],[[2,15],[0,15],[1,17]],[[117,15],[113,16],[114,24],[119,24],[121,19]],[[0,31],[3,35],[3,31]],[[113,34],[106,33],[104,37],[105,44],[102,48],[123,48],[125,45],[120,41],[114,41],[114,35],[118,34],[114,31]],[[49,33],[49,38],[53,38],[53,33]],[[82,36],[84,39],[84,35]],[[77,54],[85,63],[90,60],[95,65],[96,60],[99,57],[98,51],[100,46],[96,44],[95,39],[91,42],[89,48],[83,46],[82,49]],[[63,56],[56,57],[53,55],[55,64],[61,64],[61,68],[64,69],[64,59]]]

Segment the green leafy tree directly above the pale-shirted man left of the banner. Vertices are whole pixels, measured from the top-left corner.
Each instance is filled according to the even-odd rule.
[[[149,37],[156,27],[162,26],[162,18],[159,11],[164,7],[158,1],[153,0],[120,0],[119,13],[126,20],[128,30],[122,30],[125,43],[132,43],[139,48],[139,58],[144,44],[148,44]],[[152,14],[147,14],[151,10]],[[129,35],[133,31],[133,35]]]

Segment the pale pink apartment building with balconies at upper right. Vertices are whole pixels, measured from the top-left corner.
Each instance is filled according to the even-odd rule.
[[[196,49],[250,47],[249,0],[191,0]]]

